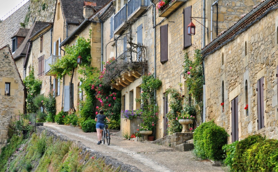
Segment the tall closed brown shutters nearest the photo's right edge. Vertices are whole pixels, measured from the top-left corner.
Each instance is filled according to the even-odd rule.
[[[258,129],[264,127],[263,77],[257,82]]]

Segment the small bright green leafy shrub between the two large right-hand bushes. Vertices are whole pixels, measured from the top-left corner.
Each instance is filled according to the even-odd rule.
[[[229,166],[230,168],[234,164],[234,155],[235,155],[235,150],[236,150],[236,145],[238,144],[238,140],[236,140],[232,144],[226,144],[222,147],[222,150],[224,153],[226,153],[226,159],[224,160],[224,164],[226,166]]]

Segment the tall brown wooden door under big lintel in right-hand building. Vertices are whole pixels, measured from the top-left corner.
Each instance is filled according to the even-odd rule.
[[[238,97],[232,100],[232,142],[238,140]]]

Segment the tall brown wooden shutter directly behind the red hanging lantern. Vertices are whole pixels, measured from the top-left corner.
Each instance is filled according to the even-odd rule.
[[[187,34],[187,26],[191,22],[191,6],[188,6],[183,9],[183,45],[184,48],[191,46],[191,35]]]

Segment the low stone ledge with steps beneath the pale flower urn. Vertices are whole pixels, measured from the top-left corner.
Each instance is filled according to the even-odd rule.
[[[187,140],[191,140],[192,138],[193,133],[174,133],[172,135],[167,135],[161,139],[155,140],[151,143],[175,148],[175,146],[186,143]]]

